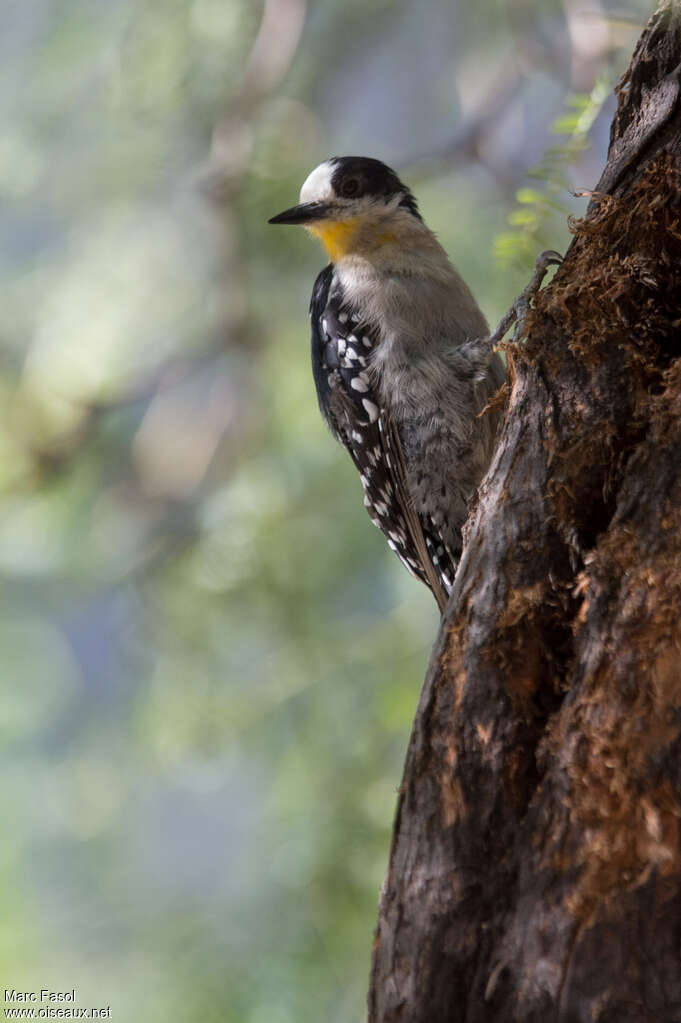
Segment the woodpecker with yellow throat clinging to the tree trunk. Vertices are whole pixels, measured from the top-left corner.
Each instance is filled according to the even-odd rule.
[[[310,303],[322,415],[348,449],[372,522],[444,610],[461,527],[492,456],[504,380],[470,291],[395,171],[366,157],[320,164],[298,206],[329,264]]]

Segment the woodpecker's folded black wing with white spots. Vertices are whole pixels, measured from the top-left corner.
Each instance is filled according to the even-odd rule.
[[[322,415],[359,471],[371,521],[412,575],[430,587],[442,610],[455,561],[434,524],[423,523],[413,508],[400,437],[372,384],[375,331],[344,303],[332,265],[315,282],[310,315],[312,367]]]

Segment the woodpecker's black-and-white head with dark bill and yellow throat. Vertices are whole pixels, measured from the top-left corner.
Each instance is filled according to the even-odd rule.
[[[368,157],[333,157],[308,176],[299,205],[269,223],[303,225],[337,262],[360,244],[395,243],[405,217],[421,223],[414,196],[395,171]]]

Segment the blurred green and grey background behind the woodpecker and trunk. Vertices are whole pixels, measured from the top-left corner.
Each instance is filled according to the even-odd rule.
[[[266,220],[378,157],[497,319],[585,209],[647,12],[5,0],[2,987],[363,1018],[437,615],[316,408],[322,253]]]

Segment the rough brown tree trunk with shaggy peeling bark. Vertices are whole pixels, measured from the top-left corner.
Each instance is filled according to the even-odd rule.
[[[407,756],[371,1023],[681,1021],[681,12],[527,339]]]

